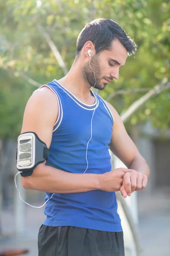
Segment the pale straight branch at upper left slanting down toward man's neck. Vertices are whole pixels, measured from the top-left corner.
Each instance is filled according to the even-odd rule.
[[[51,37],[48,35],[48,33],[44,30],[44,28],[40,24],[37,25],[37,27],[39,31],[42,33],[43,37],[45,38],[48,46],[51,48],[51,51],[53,52],[55,58],[57,59],[59,66],[62,68],[62,70],[64,71],[64,74],[66,75],[68,73],[68,70],[56,45],[54,44]]]

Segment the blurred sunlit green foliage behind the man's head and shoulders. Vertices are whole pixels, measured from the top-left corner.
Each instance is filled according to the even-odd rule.
[[[135,58],[127,58],[118,81],[100,92],[107,98],[117,90],[152,88],[165,77],[170,81],[170,2],[166,0],[94,0],[96,17],[113,19],[138,45]],[[40,84],[64,73],[38,29],[40,24],[57,45],[67,68],[71,67],[76,40],[93,19],[91,0],[0,1],[0,137],[20,133],[23,111],[36,87],[17,71]],[[142,93],[117,95],[110,100],[119,113]],[[170,93],[150,99],[130,118],[130,124],[151,119],[156,127],[170,124]],[[12,132],[11,132],[12,131]]]

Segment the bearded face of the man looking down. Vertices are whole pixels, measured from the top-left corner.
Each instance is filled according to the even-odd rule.
[[[104,50],[91,57],[91,67],[89,61],[84,63],[83,77],[92,87],[103,90],[110,81],[119,78],[119,67],[125,65],[126,58],[127,50],[118,40],[115,40],[111,51]]]

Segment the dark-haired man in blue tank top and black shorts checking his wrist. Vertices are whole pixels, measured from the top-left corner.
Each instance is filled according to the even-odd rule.
[[[119,114],[91,87],[103,90],[135,43],[113,20],[86,24],[69,73],[36,90],[28,100],[22,133],[46,143],[49,157],[23,187],[47,192],[39,256],[124,256],[115,191],[127,197],[144,189],[149,168]],[[111,170],[109,148],[128,169]]]

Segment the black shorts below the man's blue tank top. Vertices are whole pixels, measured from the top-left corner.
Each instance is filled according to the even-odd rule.
[[[38,252],[38,256],[125,256],[123,232],[42,225]]]

